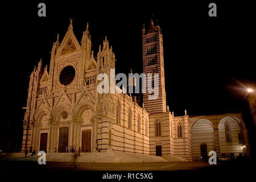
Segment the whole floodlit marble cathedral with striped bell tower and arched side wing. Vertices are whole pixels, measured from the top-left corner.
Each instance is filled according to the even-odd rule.
[[[42,60],[30,75],[26,113],[23,120],[22,151],[66,152],[75,146],[82,152],[126,152],[179,156],[200,160],[209,151],[249,154],[245,123],[239,113],[176,117],[166,104],[163,35],[151,21],[142,29],[143,73],[159,74],[158,98],[148,100],[119,89],[99,93],[100,73],[110,77],[115,55],[107,39],[97,56],[91,49],[88,26],[81,44],[72,22],[62,42],[53,43],[49,71]],[[113,85],[114,84],[114,85]]]

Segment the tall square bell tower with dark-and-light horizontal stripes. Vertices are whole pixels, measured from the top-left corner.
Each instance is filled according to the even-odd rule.
[[[148,100],[150,93],[143,93],[144,108],[150,113],[166,112],[166,88],[164,82],[164,57],[163,57],[163,35],[159,25],[154,25],[151,20],[147,31],[145,26],[142,28],[142,59],[143,59],[143,73],[152,73],[152,80],[154,75],[159,74],[159,91],[158,98]],[[153,81],[154,83],[156,81]],[[154,85],[152,83],[152,85]],[[147,81],[143,84],[147,88]]]

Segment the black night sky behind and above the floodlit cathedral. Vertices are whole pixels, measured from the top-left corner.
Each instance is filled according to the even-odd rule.
[[[38,3],[46,3],[46,17]],[[81,42],[89,22],[94,56],[105,36],[113,47],[116,73],[142,72],[142,26],[158,20],[164,42],[167,105],[175,115],[221,114],[247,108],[245,86],[255,86],[255,18],[253,6],[234,1],[71,1],[16,2],[2,6],[1,29],[4,120],[22,126],[30,73],[42,58],[50,61],[57,34],[60,41],[69,18]],[[217,17],[208,16],[210,2]],[[241,84],[239,84],[241,82]],[[248,108],[247,108],[248,109]],[[22,132],[22,131],[21,131]]]

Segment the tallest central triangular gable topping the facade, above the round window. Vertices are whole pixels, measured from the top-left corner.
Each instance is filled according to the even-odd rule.
[[[80,50],[81,50],[81,46],[76,39],[73,29],[69,27],[66,35],[63,38],[63,41],[60,44],[59,49],[57,50],[56,57],[63,56],[65,54],[80,51]]]

